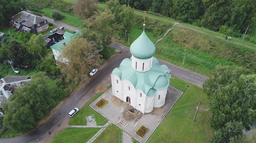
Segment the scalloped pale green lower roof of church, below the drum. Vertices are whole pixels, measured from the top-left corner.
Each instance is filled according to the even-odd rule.
[[[170,69],[160,65],[153,57],[152,68],[146,72],[138,72],[132,68],[132,60],[124,59],[119,68],[115,68],[111,75],[117,75],[120,80],[129,80],[135,89],[141,89],[147,96],[153,96],[156,90],[166,89],[171,77]]]

